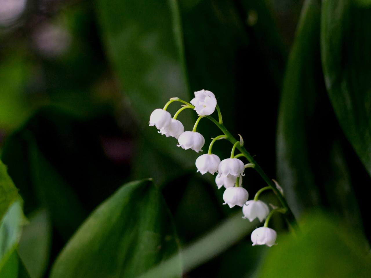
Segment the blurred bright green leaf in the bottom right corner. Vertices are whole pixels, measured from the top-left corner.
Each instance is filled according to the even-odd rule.
[[[301,222],[297,235],[279,235],[258,277],[369,277],[371,257],[362,235],[334,217],[314,215]]]

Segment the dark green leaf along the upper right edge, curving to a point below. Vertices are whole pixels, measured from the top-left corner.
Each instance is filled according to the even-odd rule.
[[[336,117],[371,175],[371,9],[351,0],[324,0],[321,57]]]

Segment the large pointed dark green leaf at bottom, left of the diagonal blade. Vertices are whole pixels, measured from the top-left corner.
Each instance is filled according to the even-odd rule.
[[[50,278],[137,277],[174,253],[170,213],[151,180],[123,185],[82,224],[60,253]]]

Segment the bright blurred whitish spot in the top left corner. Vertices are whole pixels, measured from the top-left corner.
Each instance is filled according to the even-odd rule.
[[[7,26],[18,19],[26,8],[26,0],[0,0],[0,25]]]

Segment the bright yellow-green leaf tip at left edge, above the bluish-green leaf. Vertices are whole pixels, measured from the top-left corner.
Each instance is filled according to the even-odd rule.
[[[20,198],[18,189],[7,173],[7,168],[0,160],[0,219],[3,218],[9,206]]]

